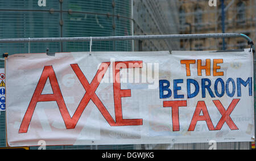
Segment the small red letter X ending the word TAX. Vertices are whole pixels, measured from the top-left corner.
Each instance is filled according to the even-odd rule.
[[[226,110],[221,104],[220,100],[213,100],[213,103],[216,105],[216,107],[218,108],[218,111],[220,111],[222,115],[220,121],[218,121],[218,124],[215,130],[220,130],[225,122],[231,130],[238,130],[236,124],[234,124],[233,120],[230,118],[230,114],[233,112],[238,101],[240,101],[240,99],[233,99],[228,109]]]

